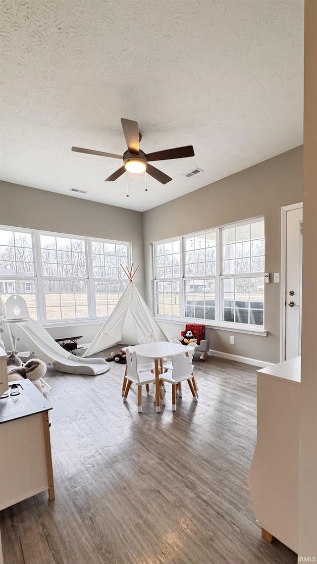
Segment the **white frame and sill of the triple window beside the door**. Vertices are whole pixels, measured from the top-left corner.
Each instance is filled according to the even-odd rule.
[[[223,292],[222,292],[222,280],[223,279],[235,279],[235,278],[263,278],[265,272],[250,272],[243,274],[223,274],[223,263],[222,263],[222,253],[223,253],[223,230],[227,228],[240,227],[243,225],[250,225],[252,223],[259,223],[263,221],[265,223],[265,217],[260,215],[258,217],[244,219],[243,221],[237,221],[232,223],[227,223],[217,227],[210,227],[202,231],[195,231],[192,233],[186,233],[185,235],[179,237],[170,237],[169,239],[164,239],[160,241],[155,241],[152,243],[152,254],[153,254],[153,294],[154,294],[154,307],[155,307],[155,317],[161,319],[162,321],[173,321],[174,323],[203,323],[208,327],[231,329],[232,331],[241,331],[248,333],[262,333],[266,334],[265,331],[265,285],[263,280],[263,325],[254,325],[250,323],[239,323],[237,321],[223,321],[222,320],[222,303],[223,303]],[[189,237],[199,237],[202,235],[207,235],[210,232],[216,233],[216,274],[215,275],[205,275],[205,276],[186,276],[185,268],[185,252],[186,244],[185,240]],[[180,243],[180,276],[179,279],[157,279],[156,278],[156,246],[164,243],[170,243],[172,241],[178,240]],[[265,240],[265,235],[264,235]],[[264,251],[265,253],[265,251]],[[264,254],[265,258],[265,254]],[[264,266],[265,268],[265,266]],[[215,281],[215,319],[202,319],[202,318],[191,318],[185,315],[185,284],[188,280],[206,280],[211,279]],[[179,316],[162,315],[157,313],[157,298],[156,298],[156,283],[157,280],[173,280],[179,281]],[[182,291],[181,291],[182,289]]]

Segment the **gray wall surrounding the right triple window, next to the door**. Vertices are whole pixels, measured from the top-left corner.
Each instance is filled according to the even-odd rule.
[[[151,243],[258,215],[265,217],[265,271],[280,272],[281,206],[300,201],[302,147],[297,147],[144,212],[147,303],[153,308]],[[175,333],[169,336],[177,337],[177,325],[173,324],[171,328]],[[268,331],[267,337],[208,329],[210,348],[267,362],[279,362],[280,284],[265,285],[265,329]],[[231,333],[235,334],[235,345],[230,345]]]

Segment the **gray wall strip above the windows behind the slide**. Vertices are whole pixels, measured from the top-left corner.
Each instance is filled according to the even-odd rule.
[[[132,243],[135,284],[144,297],[143,223],[131,211],[0,180],[0,225]]]

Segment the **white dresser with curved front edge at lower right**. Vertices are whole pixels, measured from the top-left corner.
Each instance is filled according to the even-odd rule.
[[[257,444],[248,485],[262,536],[298,549],[301,357],[257,371]]]

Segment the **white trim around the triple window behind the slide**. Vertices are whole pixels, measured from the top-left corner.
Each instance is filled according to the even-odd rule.
[[[32,251],[33,251],[33,266],[34,274],[21,276],[21,275],[1,275],[3,281],[6,280],[17,280],[17,281],[34,281],[35,285],[35,299],[36,299],[36,309],[37,309],[37,320],[43,325],[43,327],[67,327],[69,325],[89,325],[100,323],[103,324],[107,316],[96,316],[96,303],[95,303],[95,291],[94,283],[96,278],[93,276],[93,260],[92,260],[92,248],[91,243],[93,241],[100,241],[100,243],[111,243],[116,245],[125,245],[127,247],[127,263],[128,265],[132,262],[132,248],[130,241],[117,241],[112,239],[100,239],[100,237],[86,237],[84,235],[72,235],[71,233],[57,233],[52,231],[41,231],[34,229],[27,229],[24,227],[14,227],[1,225],[0,229],[7,231],[17,231],[19,233],[30,233],[32,237]],[[68,239],[79,239],[85,243],[85,253],[86,253],[86,266],[87,266],[87,277],[69,277],[63,278],[60,276],[43,276],[42,275],[42,254],[41,254],[41,235],[49,235],[53,237],[65,237]],[[125,265],[124,265],[125,266]],[[87,283],[87,304],[88,304],[88,314],[86,318],[69,318],[69,319],[46,319],[46,305],[45,305],[45,280],[61,280],[61,281],[85,281]],[[116,282],[127,281],[127,279],[100,279],[104,282]]]

